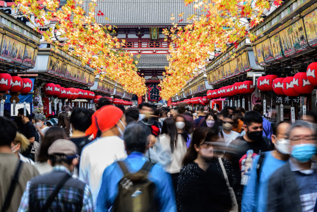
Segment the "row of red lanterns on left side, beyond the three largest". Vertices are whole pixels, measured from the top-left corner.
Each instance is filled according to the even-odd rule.
[[[44,93],[48,96],[57,96],[61,99],[94,99],[95,93],[79,88],[64,88],[54,83],[43,86]]]

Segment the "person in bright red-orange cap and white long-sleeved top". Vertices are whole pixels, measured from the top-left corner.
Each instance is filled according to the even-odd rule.
[[[97,125],[101,136],[83,148],[79,165],[79,179],[89,185],[94,205],[104,169],[127,156],[120,138],[126,126],[122,110],[112,105],[103,106],[97,117]]]

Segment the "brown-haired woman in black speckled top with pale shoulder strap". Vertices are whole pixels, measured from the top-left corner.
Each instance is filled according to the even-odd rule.
[[[218,156],[215,155],[212,147],[212,141],[217,139],[217,133],[207,128],[197,128],[194,131],[191,146],[184,156],[183,167],[178,177],[176,191],[178,212],[230,210],[229,190]],[[230,186],[233,187],[240,205],[242,193],[231,162],[226,158],[222,158],[222,161]]]

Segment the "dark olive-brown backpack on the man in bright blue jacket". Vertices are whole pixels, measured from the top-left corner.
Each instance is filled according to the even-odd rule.
[[[113,204],[115,212],[152,212],[156,210],[154,202],[155,185],[147,179],[154,163],[146,161],[143,167],[131,174],[122,161],[118,161],[123,177],[118,184],[118,195]]]

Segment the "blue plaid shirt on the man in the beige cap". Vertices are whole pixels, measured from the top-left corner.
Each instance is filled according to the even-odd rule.
[[[62,166],[62,165],[54,166],[53,171],[62,171],[62,172],[70,174],[69,170],[65,166]],[[34,191],[30,191],[30,184],[31,184],[31,181],[28,181],[28,183],[26,184],[26,188],[25,188],[25,191],[23,193],[18,212],[29,211],[30,192],[34,192]],[[51,189],[49,187],[49,185],[47,185],[47,187],[46,187],[46,185],[42,185],[37,192],[43,194],[48,189]],[[65,194],[67,194],[68,197],[71,197],[72,195],[74,195],[74,192],[75,192],[75,190],[72,190],[71,187],[68,187],[67,190],[62,188],[60,190],[60,192],[58,193],[57,197],[59,200],[62,200],[63,198],[65,198],[65,196],[64,196]],[[49,193],[47,193],[47,194],[49,194]],[[49,196],[47,196],[46,199],[48,197]],[[58,201],[58,202],[62,202],[62,201]],[[54,204],[56,205],[55,201],[52,203],[51,208],[55,208]],[[91,192],[90,192],[90,189],[89,189],[87,184],[85,185],[85,188],[84,188],[83,205],[82,205],[81,211],[82,212],[92,212],[93,211],[93,199],[92,199]]]

